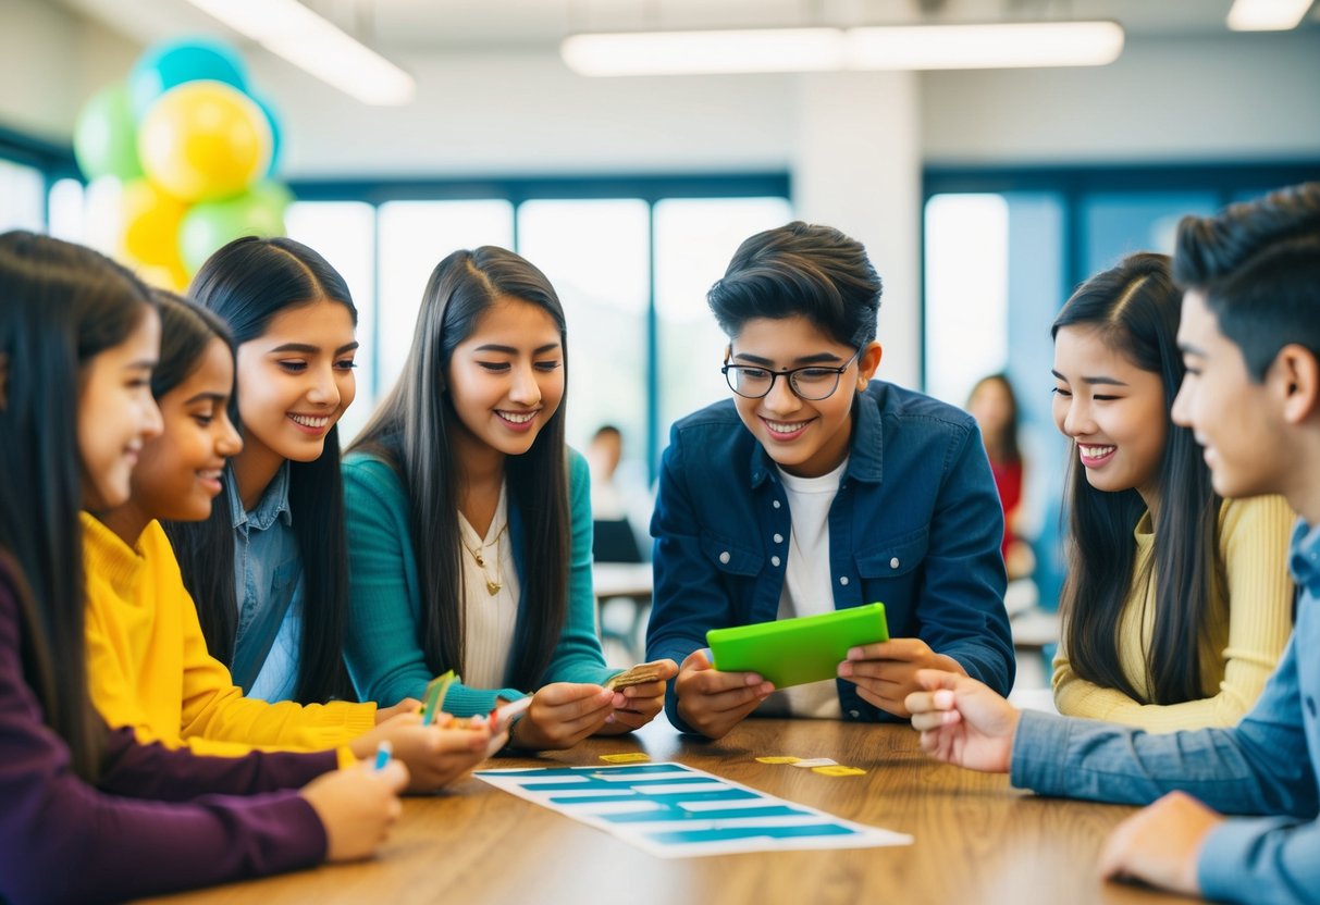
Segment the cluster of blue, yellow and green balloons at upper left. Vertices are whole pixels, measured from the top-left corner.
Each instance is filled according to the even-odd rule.
[[[272,179],[279,153],[275,113],[232,47],[209,38],[149,47],[127,82],[78,115],[92,244],[148,282],[182,289],[227,241],[284,234],[293,197]]]

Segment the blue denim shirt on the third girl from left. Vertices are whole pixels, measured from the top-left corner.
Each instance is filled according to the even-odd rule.
[[[289,463],[256,508],[243,509],[226,468],[234,517],[234,587],[239,602],[234,681],[249,698],[293,701],[302,642],[302,557],[289,511]]]

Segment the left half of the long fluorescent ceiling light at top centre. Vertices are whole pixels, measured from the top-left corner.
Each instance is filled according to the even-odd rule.
[[[560,55],[581,75],[818,73],[843,67],[837,28],[574,34]]]

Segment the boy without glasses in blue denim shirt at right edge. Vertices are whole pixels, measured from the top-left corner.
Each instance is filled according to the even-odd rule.
[[[1173,420],[1196,431],[1220,495],[1282,493],[1302,516],[1288,558],[1296,623],[1274,677],[1234,728],[1148,735],[1019,714],[964,675],[925,671],[912,726],[932,756],[1043,794],[1163,796],[1110,836],[1105,876],[1320,902],[1320,182],[1185,218],[1173,276],[1187,361]]]

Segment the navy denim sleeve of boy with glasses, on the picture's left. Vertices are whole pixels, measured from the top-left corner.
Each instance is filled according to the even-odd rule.
[[[722,592],[714,565],[701,554],[701,528],[690,503],[677,431],[660,463],[660,488],[651,536],[655,537],[655,591],[647,625],[647,660],[668,657],[676,664],[706,646],[706,629],[733,624],[733,604]],[[675,681],[665,693],[669,722],[693,732],[678,716]]]

